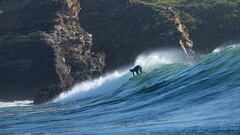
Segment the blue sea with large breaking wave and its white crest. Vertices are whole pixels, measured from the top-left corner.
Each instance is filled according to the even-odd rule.
[[[3,134],[239,134],[240,46],[185,64],[178,51],[76,84],[51,103],[0,108]],[[131,78],[131,79],[130,79]]]

